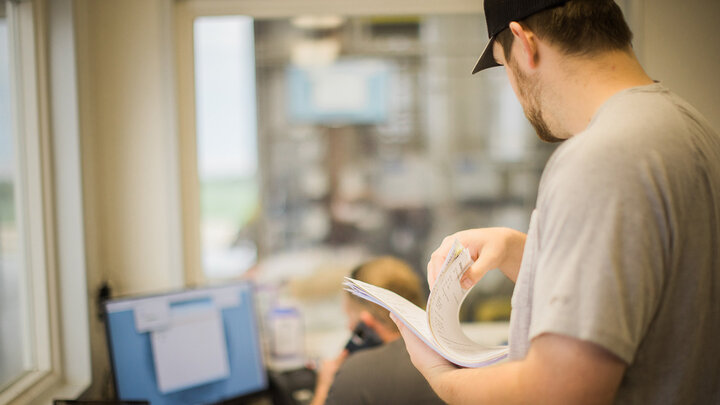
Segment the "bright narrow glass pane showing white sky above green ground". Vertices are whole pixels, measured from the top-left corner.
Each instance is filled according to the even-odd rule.
[[[203,268],[208,278],[227,278],[257,259],[253,20],[203,17],[194,28]]]

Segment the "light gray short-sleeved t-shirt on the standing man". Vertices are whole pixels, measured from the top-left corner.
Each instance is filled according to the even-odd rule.
[[[720,137],[660,84],[611,97],[543,173],[512,359],[557,333],[628,364],[618,404],[720,404]]]

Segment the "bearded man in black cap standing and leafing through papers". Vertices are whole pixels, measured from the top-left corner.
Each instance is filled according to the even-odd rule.
[[[638,63],[612,0],[485,0],[490,43],[538,136],[558,147],[527,234],[455,239],[470,288],[515,282],[511,361],[459,369],[400,326],[450,403],[720,404],[720,137]]]

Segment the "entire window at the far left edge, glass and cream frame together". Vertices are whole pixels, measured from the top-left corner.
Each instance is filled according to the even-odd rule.
[[[68,113],[75,77],[65,58],[74,55],[66,46],[74,43],[70,5],[0,0],[2,404],[44,403],[58,389],[74,395],[89,381],[85,265],[76,259],[84,257],[81,194],[71,187],[81,178],[70,170],[79,162],[70,136],[77,115]],[[62,119],[52,120],[51,111]],[[63,355],[72,361],[61,362]]]

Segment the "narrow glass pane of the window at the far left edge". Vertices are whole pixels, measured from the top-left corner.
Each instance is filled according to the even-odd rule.
[[[17,217],[19,178],[12,126],[10,47],[0,2],[0,390],[31,369],[28,294]]]

